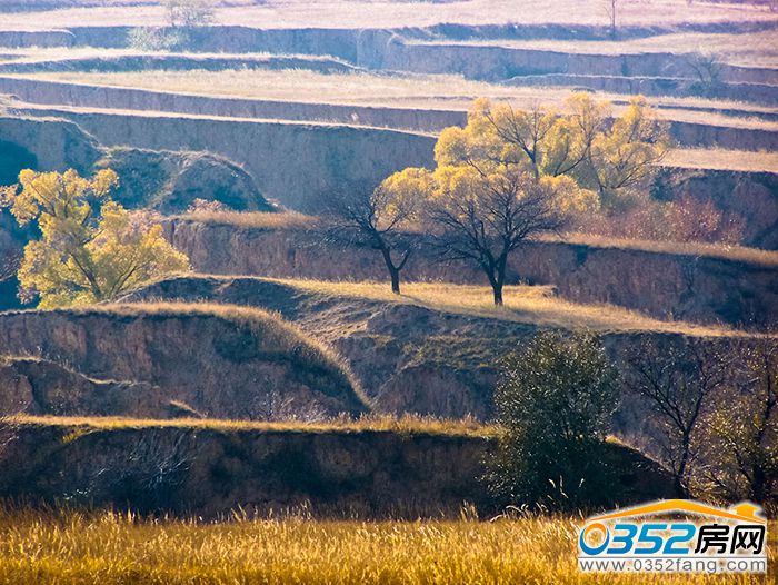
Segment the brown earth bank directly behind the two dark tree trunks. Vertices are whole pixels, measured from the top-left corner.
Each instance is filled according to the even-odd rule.
[[[383,280],[373,250],[342,250],[305,229],[242,228],[173,219],[167,237],[198,271],[323,280]],[[595,240],[596,241],[596,240]],[[772,258],[769,252],[766,258]],[[509,284],[553,285],[577,303],[609,303],[649,315],[754,326],[778,321],[775,259],[748,261],[722,252],[668,254],[597,244],[531,241],[515,254]],[[469,265],[441,264],[420,250],[407,280],[486,284]]]

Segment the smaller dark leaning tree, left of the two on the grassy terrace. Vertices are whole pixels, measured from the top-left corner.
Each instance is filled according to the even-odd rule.
[[[325,202],[327,239],[379,251],[391,279],[391,291],[399,295],[400,272],[420,239],[418,234],[402,228],[412,220],[418,204],[416,197],[398,196],[383,187],[330,194]]]

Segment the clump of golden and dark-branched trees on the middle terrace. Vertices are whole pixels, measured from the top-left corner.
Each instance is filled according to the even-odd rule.
[[[641,97],[616,118],[586,93],[572,95],[565,113],[479,99],[465,128],[440,135],[435,169],[408,168],[372,192],[329,197],[329,234],[379,250],[397,294],[423,234],[442,259],[480,268],[500,305],[509,258],[527,238],[630,206],[669,143]]]

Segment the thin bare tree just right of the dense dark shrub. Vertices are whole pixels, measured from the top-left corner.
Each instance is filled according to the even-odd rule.
[[[714,394],[730,377],[729,360],[710,339],[684,338],[659,346],[645,341],[627,356],[627,386],[646,398],[660,429],[652,437],[672,474],[676,493],[688,497],[700,425]]]

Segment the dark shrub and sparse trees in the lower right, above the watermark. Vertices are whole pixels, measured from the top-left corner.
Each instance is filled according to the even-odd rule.
[[[496,391],[505,428],[490,485],[505,502],[552,508],[618,500],[606,436],[624,385],[648,424],[641,447],[678,497],[778,505],[778,345],[646,340],[619,375],[591,334],[539,334],[507,356]]]

